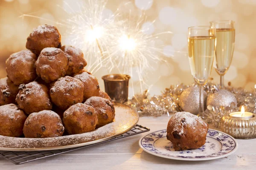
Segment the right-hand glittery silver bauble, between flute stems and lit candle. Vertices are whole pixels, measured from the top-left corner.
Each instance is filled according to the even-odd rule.
[[[225,89],[220,89],[218,92],[209,94],[207,97],[207,106],[211,105],[213,107],[227,107],[234,102],[235,107],[237,106],[237,100],[233,93]]]

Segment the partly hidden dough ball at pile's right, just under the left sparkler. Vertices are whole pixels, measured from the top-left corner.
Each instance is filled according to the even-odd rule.
[[[61,47],[61,50],[64,51],[69,59],[66,75],[78,73],[87,65],[87,62],[84,59],[84,54],[79,48],[65,45]]]

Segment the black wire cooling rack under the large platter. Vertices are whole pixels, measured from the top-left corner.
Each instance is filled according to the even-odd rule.
[[[106,141],[99,142],[96,144],[101,144],[104,142],[109,142],[109,141],[113,141],[116,139],[121,139],[121,138],[125,138],[128,136],[137,135],[139,133],[148,132],[149,130],[150,129],[148,129],[147,127],[143,127],[141,125],[136,125],[130,131],[123,133],[122,135],[115,136],[111,139],[108,139]],[[61,153],[70,152],[72,150],[77,150],[77,149],[81,149],[84,147],[90,147],[90,146],[93,146],[96,144],[90,144],[90,145],[86,145],[86,146],[74,147],[74,148],[69,148],[69,149],[60,149],[60,150],[44,150],[44,151],[3,151],[3,150],[0,150],[0,156],[3,156],[4,158],[8,159],[9,161],[11,161],[14,164],[24,164],[24,163],[27,163],[30,161],[35,161],[35,160],[46,158],[49,156],[54,156],[54,155],[58,155]]]

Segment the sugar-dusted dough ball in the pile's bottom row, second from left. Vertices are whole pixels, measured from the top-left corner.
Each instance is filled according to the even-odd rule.
[[[54,111],[40,111],[28,116],[23,133],[26,138],[58,137],[63,135],[64,126],[60,116]]]

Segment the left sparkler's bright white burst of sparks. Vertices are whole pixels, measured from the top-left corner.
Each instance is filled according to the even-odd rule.
[[[64,3],[71,11],[67,12],[69,19],[64,21],[68,25],[65,36],[84,51],[88,71],[103,67],[111,44],[110,35],[118,28],[115,21],[118,13],[106,16],[106,0],[84,0],[78,4],[79,10]]]

